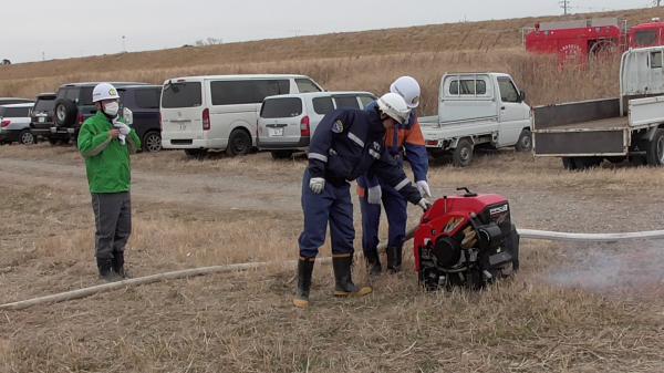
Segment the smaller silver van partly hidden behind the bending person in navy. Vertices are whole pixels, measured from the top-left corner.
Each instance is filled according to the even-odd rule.
[[[309,138],[325,114],[335,108],[364,108],[376,96],[371,92],[315,92],[266,97],[258,118],[258,143],[274,159],[305,151]]]

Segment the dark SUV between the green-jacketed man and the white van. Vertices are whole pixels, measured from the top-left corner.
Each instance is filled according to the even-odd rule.
[[[159,103],[160,85],[126,85],[117,89],[122,107],[128,107],[134,116],[132,127],[136,129],[144,152],[162,149],[162,124]]]

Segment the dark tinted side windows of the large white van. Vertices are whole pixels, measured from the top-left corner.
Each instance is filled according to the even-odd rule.
[[[267,96],[290,93],[288,80],[217,81],[210,83],[212,105],[258,104]]]

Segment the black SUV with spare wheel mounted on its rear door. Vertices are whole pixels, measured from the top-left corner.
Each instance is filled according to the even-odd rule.
[[[98,83],[73,83],[61,85],[54,104],[53,126],[50,137],[69,142],[79,136],[79,129],[85,120],[96,113],[92,103],[92,91]],[[147,83],[111,82],[116,89],[123,86],[147,85]],[[131,107],[129,107],[131,108]]]

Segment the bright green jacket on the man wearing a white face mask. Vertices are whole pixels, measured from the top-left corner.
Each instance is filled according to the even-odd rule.
[[[113,124],[102,112],[87,118],[79,132],[79,152],[85,158],[91,193],[129,191],[132,164],[129,153],[136,153],[141,139],[132,129],[125,145],[111,137]]]

